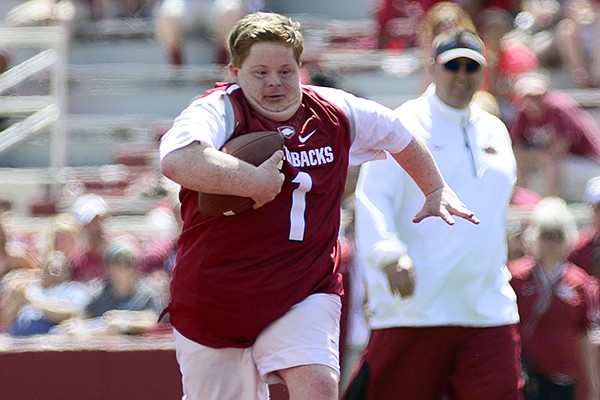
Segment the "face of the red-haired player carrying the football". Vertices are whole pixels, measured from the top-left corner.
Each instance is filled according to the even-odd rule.
[[[239,68],[229,65],[252,108],[274,121],[289,119],[300,106],[299,69],[293,49],[272,42],[254,44]]]

